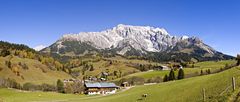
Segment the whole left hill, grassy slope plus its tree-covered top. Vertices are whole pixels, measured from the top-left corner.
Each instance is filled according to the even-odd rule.
[[[24,84],[55,85],[58,79],[72,78],[62,65],[28,46],[0,41],[0,78]]]

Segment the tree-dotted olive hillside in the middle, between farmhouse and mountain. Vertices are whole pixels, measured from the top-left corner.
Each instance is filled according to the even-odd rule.
[[[82,58],[72,61],[72,63],[83,63],[86,62],[88,65],[92,65],[94,70],[86,70],[83,74],[84,64],[78,67],[71,68],[73,72],[79,72],[78,78],[82,79],[83,76],[100,77],[102,72],[108,72],[109,80],[114,80],[120,76],[126,76],[132,73],[138,73],[140,70],[137,68],[139,65],[159,65],[160,63],[149,62],[146,60],[138,59],[126,59],[120,56],[103,58],[103,57],[92,57]],[[69,64],[72,65],[72,64]],[[114,75],[116,72],[117,75]]]

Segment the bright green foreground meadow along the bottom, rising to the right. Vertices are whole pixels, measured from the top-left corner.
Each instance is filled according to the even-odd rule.
[[[202,88],[206,89],[207,101],[227,101],[232,94],[231,88],[220,95],[236,78],[237,89],[240,88],[240,67],[221,73],[166,82],[150,86],[136,86],[130,90],[109,96],[79,96],[43,92],[19,92],[0,89],[0,99],[7,102],[202,102]],[[141,100],[142,94],[148,94]],[[30,98],[22,98],[29,97]],[[144,101],[145,100],[145,101]]]

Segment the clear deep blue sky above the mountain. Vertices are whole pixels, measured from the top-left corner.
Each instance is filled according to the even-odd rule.
[[[0,0],[0,40],[35,47],[50,45],[65,33],[148,25],[200,37],[236,55],[239,5],[238,0]]]

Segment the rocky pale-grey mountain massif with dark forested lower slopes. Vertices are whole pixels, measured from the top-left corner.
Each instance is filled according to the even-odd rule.
[[[119,24],[100,32],[65,34],[40,52],[54,56],[121,55],[154,61],[231,59],[198,37],[172,36],[164,28]]]

